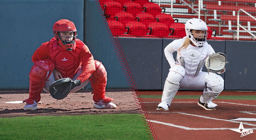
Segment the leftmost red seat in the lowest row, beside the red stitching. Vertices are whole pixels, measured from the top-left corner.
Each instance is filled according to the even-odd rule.
[[[121,22],[115,21],[115,20],[109,20],[108,23],[109,23],[110,30],[114,36],[124,34],[125,30]]]

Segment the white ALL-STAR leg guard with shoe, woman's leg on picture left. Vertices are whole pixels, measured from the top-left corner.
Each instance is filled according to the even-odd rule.
[[[179,82],[185,75],[185,69],[180,65],[175,65],[170,69],[170,72],[164,83],[164,91],[161,103],[158,104],[157,110],[168,110],[173,97],[179,90]]]

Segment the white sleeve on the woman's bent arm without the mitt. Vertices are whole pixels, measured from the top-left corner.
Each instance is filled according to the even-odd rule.
[[[175,60],[173,58],[173,52],[177,51],[174,48],[176,48],[176,46],[180,47],[179,44],[181,44],[181,42],[179,39],[177,39],[174,40],[172,43],[168,44],[164,49],[164,54],[170,67],[176,65]]]

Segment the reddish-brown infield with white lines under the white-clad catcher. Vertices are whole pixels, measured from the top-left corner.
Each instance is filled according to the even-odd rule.
[[[162,95],[161,91],[142,91],[141,95]],[[200,95],[198,91],[178,91],[176,95]],[[225,95],[256,95],[256,92],[222,92]],[[256,118],[255,100],[215,99],[216,110],[205,110],[198,99],[173,99],[169,110],[156,110],[161,99],[143,99],[156,139],[255,139],[254,133],[240,137],[241,121],[237,118]],[[244,129],[256,129],[256,121],[242,121]]]

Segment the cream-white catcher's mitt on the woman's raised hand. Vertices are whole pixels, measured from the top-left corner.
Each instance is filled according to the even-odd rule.
[[[225,68],[227,57],[222,52],[217,52],[209,55],[205,60],[205,66],[208,72],[218,73],[222,72]]]

